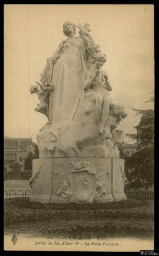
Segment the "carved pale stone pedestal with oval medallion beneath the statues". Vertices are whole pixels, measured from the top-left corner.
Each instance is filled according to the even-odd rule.
[[[102,157],[33,160],[31,201],[107,203],[127,199],[124,160]]]

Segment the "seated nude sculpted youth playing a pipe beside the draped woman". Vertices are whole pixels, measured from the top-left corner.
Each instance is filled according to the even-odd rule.
[[[108,80],[107,73],[101,69],[106,61],[104,53],[95,54],[95,64],[91,65],[87,72],[85,80],[85,90],[91,89],[95,92],[95,111],[98,119],[98,127],[100,134],[104,134],[104,125],[108,118],[108,112],[111,103],[110,91],[112,87]],[[109,134],[105,133],[109,137]]]

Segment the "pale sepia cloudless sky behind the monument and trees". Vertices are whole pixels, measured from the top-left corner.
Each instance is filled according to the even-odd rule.
[[[65,39],[65,21],[90,24],[95,43],[107,56],[102,69],[111,81],[112,102],[128,114],[118,129],[136,133],[140,116],[131,108],[153,108],[144,103],[154,91],[153,5],[5,5],[4,18],[5,135],[37,142],[47,117],[34,111],[39,100],[29,88],[39,82],[47,58]]]

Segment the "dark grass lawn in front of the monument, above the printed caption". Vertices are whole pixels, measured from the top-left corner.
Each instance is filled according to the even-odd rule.
[[[5,234],[153,238],[153,201],[127,199],[95,204],[42,204],[5,199]]]

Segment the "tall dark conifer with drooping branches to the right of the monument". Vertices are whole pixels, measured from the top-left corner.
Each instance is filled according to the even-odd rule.
[[[154,97],[150,102],[154,101]],[[125,159],[125,175],[134,184],[154,183],[154,110],[134,109],[136,115],[141,114],[141,121],[137,125],[137,134],[126,134],[137,140],[137,152],[130,157],[120,149],[120,155]]]

